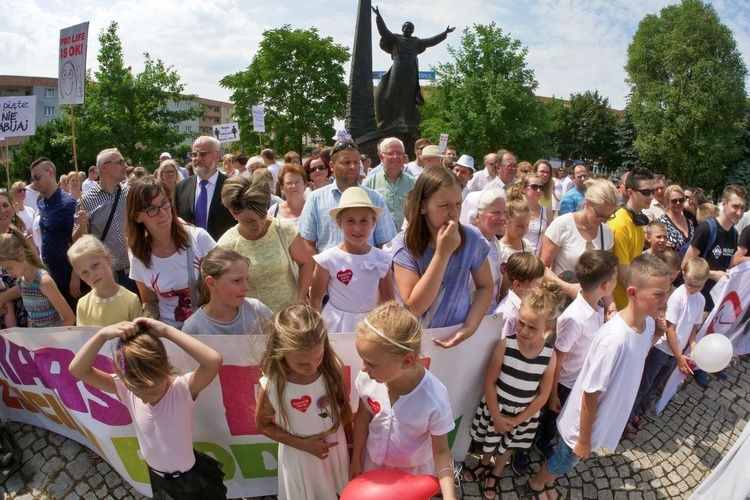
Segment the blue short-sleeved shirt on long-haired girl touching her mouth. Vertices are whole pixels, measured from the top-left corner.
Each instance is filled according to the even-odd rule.
[[[462,227],[465,235],[464,246],[458,254],[451,255],[448,261],[448,267],[440,285],[441,291],[435,299],[440,302],[434,303],[430,308],[431,311],[434,311],[434,315],[432,315],[429,325],[425,325],[427,328],[461,325],[466,321],[466,316],[469,314],[469,307],[471,306],[469,278],[471,273],[478,271],[484,264],[490,252],[490,245],[477,228],[463,224]],[[427,247],[424,255],[416,258],[404,246],[404,233],[399,233],[393,239],[391,253],[393,254],[394,264],[422,276],[435,255],[435,249]]]

